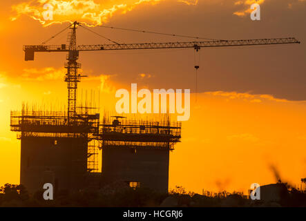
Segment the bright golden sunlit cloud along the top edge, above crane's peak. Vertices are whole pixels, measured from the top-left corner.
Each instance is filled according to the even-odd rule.
[[[155,5],[160,1],[166,0],[125,0],[125,1],[94,1],[94,0],[35,0],[19,3],[12,6],[15,15],[10,18],[15,21],[21,15],[27,15],[39,21],[43,26],[50,26],[52,23],[63,23],[66,21],[77,20],[84,22],[88,26],[101,26],[107,23],[113,15],[125,14],[142,4]],[[188,6],[196,5],[198,0],[178,0]],[[44,8],[48,3],[51,8]],[[52,13],[52,19],[45,20],[46,16]],[[50,18],[50,17],[49,17]]]

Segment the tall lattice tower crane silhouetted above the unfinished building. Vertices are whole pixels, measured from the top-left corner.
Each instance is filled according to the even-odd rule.
[[[44,42],[41,45],[23,46],[25,51],[25,60],[33,61],[35,52],[68,52],[65,63],[67,68],[65,81],[68,88],[68,124],[73,124],[76,116],[77,102],[77,83],[84,75],[79,75],[77,69],[81,68],[81,64],[77,62],[79,52],[91,50],[140,50],[140,49],[172,49],[172,48],[193,48],[198,51],[200,48],[208,47],[233,47],[233,46],[262,46],[262,45],[277,45],[277,44],[300,44],[300,41],[294,37],[276,38],[276,39],[241,39],[241,40],[209,40],[209,41],[185,41],[185,42],[165,42],[165,43],[136,43],[136,44],[118,44],[111,39],[113,44],[95,44],[95,45],[79,45],[77,46],[77,27],[82,26],[82,23],[73,22],[67,28],[70,28],[68,33],[68,45],[46,45]],[[65,28],[64,30],[66,30]],[[87,28],[86,28],[87,29]],[[62,30],[61,32],[63,32]],[[60,33],[60,32],[59,32]],[[58,33],[58,34],[59,34]],[[52,37],[54,38],[54,37]],[[51,38],[51,39],[52,39]],[[106,37],[104,37],[106,38]],[[106,38],[107,39],[107,38]],[[50,40],[50,39],[48,39]],[[198,68],[196,66],[195,68]]]

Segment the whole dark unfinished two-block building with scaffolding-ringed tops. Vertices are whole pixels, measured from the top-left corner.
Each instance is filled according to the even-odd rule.
[[[169,151],[180,141],[180,124],[124,117],[104,117],[100,124],[90,111],[95,109],[80,108],[71,124],[66,113],[12,111],[11,130],[21,139],[21,184],[31,193],[47,182],[55,191],[117,181],[168,191]]]

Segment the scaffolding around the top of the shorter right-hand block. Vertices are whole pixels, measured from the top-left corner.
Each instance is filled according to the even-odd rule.
[[[171,122],[169,116],[162,120],[128,119],[122,116],[104,116],[97,139],[102,147],[169,148],[180,142],[181,122]]]

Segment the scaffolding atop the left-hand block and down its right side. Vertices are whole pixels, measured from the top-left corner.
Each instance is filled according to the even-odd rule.
[[[11,111],[10,129],[17,131],[17,138],[48,137],[48,138],[76,138],[81,137],[87,142],[87,171],[98,172],[97,157],[99,143],[95,137],[99,131],[99,114],[95,108],[79,107],[68,121],[65,111],[35,111],[23,106],[21,111]]]

